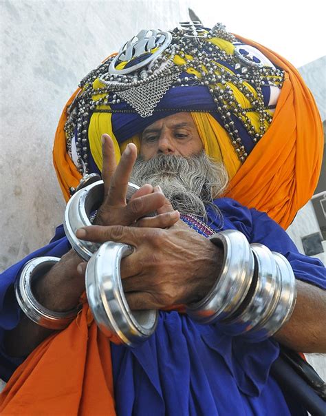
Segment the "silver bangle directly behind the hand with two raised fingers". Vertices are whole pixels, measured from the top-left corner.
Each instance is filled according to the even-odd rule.
[[[100,207],[104,195],[104,183],[102,180],[96,180],[96,176],[87,176],[83,178],[74,192],[72,198],[69,199],[65,209],[65,220],[63,227],[65,234],[69,240],[72,248],[83,258],[88,261],[93,253],[95,253],[100,244],[85,240],[79,240],[76,237],[76,231],[81,227],[91,225],[91,213]],[[96,180],[94,182],[94,180]],[[90,185],[87,185],[91,181]],[[138,185],[128,183],[127,201],[139,189]],[[155,213],[148,214],[148,216],[155,216]]]

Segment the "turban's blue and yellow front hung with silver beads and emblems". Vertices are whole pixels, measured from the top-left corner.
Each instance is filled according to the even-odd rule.
[[[220,23],[211,30],[193,22],[171,32],[142,30],[81,81],[69,109],[67,143],[70,148],[75,141],[76,165],[87,174],[92,114],[120,114],[123,121],[133,113],[149,124],[155,112],[209,112],[228,132],[242,163],[272,122],[283,75],[257,48],[237,41]]]

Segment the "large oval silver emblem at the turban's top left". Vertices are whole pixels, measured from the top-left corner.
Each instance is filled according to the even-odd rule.
[[[170,32],[153,29],[140,30],[130,41],[124,43],[118,55],[111,61],[109,74],[130,74],[149,65],[168,48],[171,39]],[[153,49],[155,52],[152,53]]]

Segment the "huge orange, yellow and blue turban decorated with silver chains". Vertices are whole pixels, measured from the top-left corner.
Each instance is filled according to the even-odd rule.
[[[226,166],[230,185],[225,196],[267,212],[286,228],[312,196],[323,155],[322,123],[300,74],[275,52],[234,37],[221,25],[203,30],[199,39],[185,37],[182,30],[163,33],[172,34],[172,40],[161,53],[161,66],[156,63],[147,73],[150,65],[137,67],[151,61],[160,44],[129,61],[124,48],[88,74],[69,99],[54,143],[65,199],[83,174],[100,173],[103,133],[113,138],[119,160],[127,143],[139,149],[146,126],[187,111],[206,153]],[[153,36],[162,39],[162,32]],[[123,70],[128,76],[119,75]]]

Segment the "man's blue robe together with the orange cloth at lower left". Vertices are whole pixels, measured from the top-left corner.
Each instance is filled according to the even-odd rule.
[[[283,253],[296,278],[326,288],[319,260],[298,253],[266,214],[228,198],[215,200],[223,218],[208,212],[213,229],[237,229],[248,241]],[[69,250],[63,227],[47,247],[1,275],[0,340],[19,322],[19,306],[8,302],[23,264]],[[177,311],[161,311],[155,334],[130,349],[111,344],[83,312],[67,329],[47,338],[10,378],[1,394],[1,415],[290,415],[305,414],[270,376],[279,353],[272,340],[243,342],[224,335],[218,324],[199,325]],[[17,360],[1,351],[0,377]],[[113,383],[112,383],[113,380]],[[114,391],[113,391],[114,385]],[[114,394],[114,402],[113,402]],[[230,400],[232,397],[232,400]],[[49,410],[50,409],[50,410]],[[176,410],[177,409],[177,410]]]

